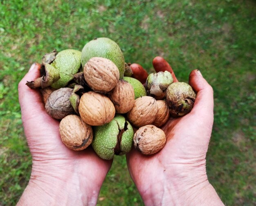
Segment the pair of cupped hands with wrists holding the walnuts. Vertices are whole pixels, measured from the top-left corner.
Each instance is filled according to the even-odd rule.
[[[174,82],[178,81],[169,64],[159,61],[154,67],[171,72]],[[112,160],[101,159],[91,146],[72,151],[61,142],[59,121],[46,113],[40,92],[25,85],[39,77],[39,69],[39,64],[33,64],[18,85],[32,155],[31,177],[18,205],[96,205]],[[145,205],[222,205],[206,174],[213,89],[198,70],[191,71],[189,84],[197,93],[194,107],[162,127],[164,148],[150,156],[132,148],[126,155],[130,176]]]

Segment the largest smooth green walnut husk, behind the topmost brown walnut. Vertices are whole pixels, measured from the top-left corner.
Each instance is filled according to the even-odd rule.
[[[95,38],[91,40],[82,50],[81,62],[82,66],[93,57],[103,57],[115,63],[119,69],[120,79],[124,76],[124,55],[116,42],[109,38]]]

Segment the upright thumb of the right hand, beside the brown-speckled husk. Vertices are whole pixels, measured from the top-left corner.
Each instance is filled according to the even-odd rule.
[[[202,117],[205,123],[213,123],[213,89],[203,78],[199,70],[191,71],[189,84],[197,93],[191,115]]]

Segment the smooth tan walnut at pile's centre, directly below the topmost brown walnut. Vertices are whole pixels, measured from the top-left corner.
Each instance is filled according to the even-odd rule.
[[[78,110],[82,120],[92,126],[106,124],[115,116],[115,106],[110,99],[93,91],[81,96]]]

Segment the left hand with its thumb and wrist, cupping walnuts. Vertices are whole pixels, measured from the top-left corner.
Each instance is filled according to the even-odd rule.
[[[46,113],[40,92],[25,85],[39,77],[39,69],[33,64],[18,86],[32,155],[31,177],[18,205],[96,205],[112,161],[99,158],[91,146],[72,151],[61,142],[59,121]]]

